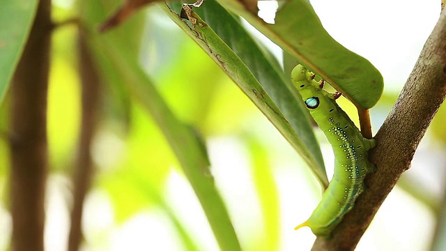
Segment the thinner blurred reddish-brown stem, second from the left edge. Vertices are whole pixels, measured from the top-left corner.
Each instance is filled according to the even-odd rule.
[[[86,36],[79,31],[79,73],[82,82],[82,124],[77,153],[77,164],[73,176],[73,203],[71,209],[68,250],[77,251],[82,241],[82,209],[86,192],[93,177],[91,142],[98,122],[100,99],[100,77],[86,45]]]

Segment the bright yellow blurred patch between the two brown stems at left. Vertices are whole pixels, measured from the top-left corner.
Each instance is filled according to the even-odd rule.
[[[75,50],[77,29],[65,26],[52,34],[52,67],[49,72],[47,137],[49,166],[69,170],[76,151],[80,121],[80,86]],[[69,42],[68,42],[69,41]]]

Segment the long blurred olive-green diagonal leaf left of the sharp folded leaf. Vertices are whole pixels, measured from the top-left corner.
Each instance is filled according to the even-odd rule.
[[[90,34],[93,35],[91,31]],[[203,151],[203,145],[197,135],[171,113],[151,80],[140,68],[137,57],[132,56],[129,51],[131,47],[121,43],[125,36],[116,35],[107,33],[106,36],[91,36],[93,51],[107,58],[115,67],[121,84],[128,85],[132,96],[137,98],[153,116],[194,188],[220,248],[240,250],[226,207],[209,172],[208,158],[206,151]]]

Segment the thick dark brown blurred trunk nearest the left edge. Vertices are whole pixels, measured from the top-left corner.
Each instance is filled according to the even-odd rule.
[[[12,250],[43,250],[51,2],[41,0],[11,85]]]

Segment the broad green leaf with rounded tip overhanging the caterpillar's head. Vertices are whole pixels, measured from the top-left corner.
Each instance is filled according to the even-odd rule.
[[[369,109],[378,102],[383,76],[367,59],[347,50],[325,31],[309,1],[284,2],[277,10],[275,24],[263,22],[237,0],[220,2],[330,82],[356,107]]]

